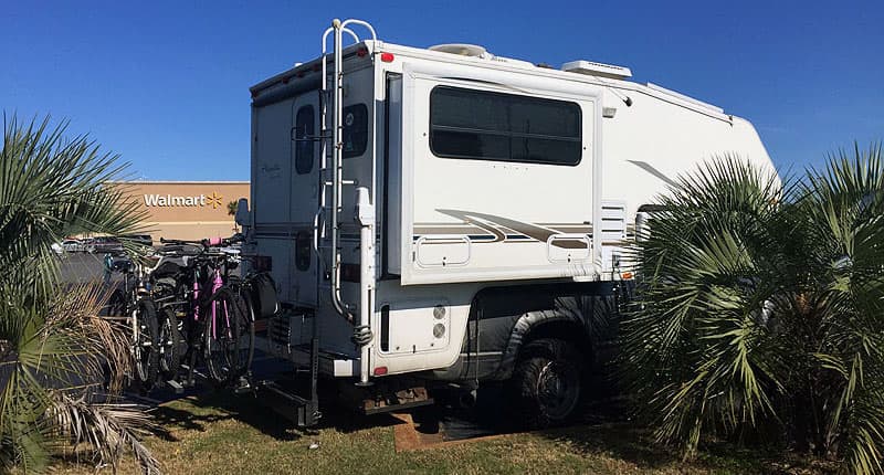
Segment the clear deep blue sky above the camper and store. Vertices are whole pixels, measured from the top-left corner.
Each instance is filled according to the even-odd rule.
[[[9,1],[0,107],[69,118],[148,179],[249,178],[249,86],[318,55],[332,18],[382,40],[587,59],[755,124],[781,169],[884,139],[884,2]]]

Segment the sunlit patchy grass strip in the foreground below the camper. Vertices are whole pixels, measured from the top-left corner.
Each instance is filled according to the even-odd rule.
[[[652,448],[625,423],[511,434],[396,452],[392,416],[337,416],[298,431],[249,398],[189,398],[155,411],[148,446],[167,474],[758,474],[820,473],[807,463],[713,447],[691,463]],[[311,450],[312,443],[319,447]],[[122,473],[135,473],[130,462]],[[107,471],[109,472],[109,469]],[[90,474],[72,460],[56,473]]]

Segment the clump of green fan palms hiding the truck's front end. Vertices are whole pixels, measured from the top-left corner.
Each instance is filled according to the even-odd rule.
[[[659,442],[704,435],[884,460],[881,147],[785,183],[715,161],[659,199],[634,245],[624,378]]]

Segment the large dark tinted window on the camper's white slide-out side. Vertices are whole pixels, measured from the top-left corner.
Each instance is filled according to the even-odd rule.
[[[430,93],[430,149],[438,157],[577,165],[580,106],[460,87]]]

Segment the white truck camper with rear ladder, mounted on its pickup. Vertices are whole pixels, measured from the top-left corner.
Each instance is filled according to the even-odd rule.
[[[496,383],[532,424],[571,416],[612,350],[643,207],[715,156],[771,166],[747,120],[630,77],[335,20],[319,57],[253,86],[243,252],[281,303],[265,350],[312,382],[259,388],[303,425],[317,379],[367,413]]]

